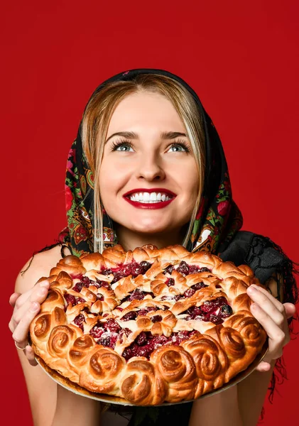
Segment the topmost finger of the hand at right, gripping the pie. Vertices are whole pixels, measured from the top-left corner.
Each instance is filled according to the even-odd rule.
[[[263,289],[262,289],[263,290]],[[287,327],[287,321],[286,321],[286,310],[284,306],[281,304],[281,302],[278,302],[273,296],[269,295],[271,298],[268,297],[268,295],[265,295],[263,292],[258,290],[254,285],[250,285],[250,287],[247,289],[247,293],[251,297],[251,300],[253,300],[256,304],[258,304],[264,312],[268,315],[268,317],[275,322],[278,327],[283,329],[283,331],[286,331]],[[277,304],[273,302],[276,301],[281,305],[280,309],[278,310]],[[283,310],[284,313],[281,311]]]

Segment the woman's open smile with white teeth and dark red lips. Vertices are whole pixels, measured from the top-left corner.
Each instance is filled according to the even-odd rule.
[[[176,194],[164,188],[152,188],[151,190],[138,188],[124,194],[124,200],[139,209],[162,209],[172,202]]]

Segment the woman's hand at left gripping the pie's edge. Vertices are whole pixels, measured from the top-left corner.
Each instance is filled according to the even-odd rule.
[[[32,366],[36,366],[37,362],[34,359],[33,349],[28,344],[29,327],[40,311],[40,304],[48,295],[49,287],[48,280],[43,280],[25,293],[13,293],[9,298],[9,304],[13,307],[9,329],[13,334],[13,340],[23,348],[23,353]]]

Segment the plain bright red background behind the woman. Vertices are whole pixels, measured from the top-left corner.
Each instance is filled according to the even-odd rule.
[[[136,67],[183,77],[222,138],[244,229],[299,260],[298,2],[16,0],[1,15],[1,405],[10,424],[26,426],[9,295],[31,253],[65,226],[67,151],[102,80]],[[299,425],[298,349],[299,339],[285,349],[288,381],[266,403],[264,425]]]

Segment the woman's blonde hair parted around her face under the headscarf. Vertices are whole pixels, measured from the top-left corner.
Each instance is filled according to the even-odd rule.
[[[145,91],[162,94],[173,104],[185,125],[195,155],[199,190],[182,244],[186,246],[202,197],[205,176],[205,136],[202,130],[202,116],[195,99],[180,82],[163,75],[146,74],[138,75],[134,80],[107,83],[99,92],[92,95],[85,109],[82,119],[83,152],[94,177],[97,177],[102,163],[109,122],[114,110],[129,94]],[[94,179],[94,251],[99,253],[104,250],[102,208],[99,180]]]

